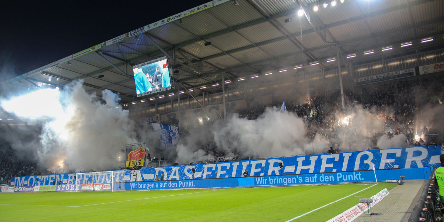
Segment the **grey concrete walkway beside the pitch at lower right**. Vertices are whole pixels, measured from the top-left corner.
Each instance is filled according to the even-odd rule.
[[[370,208],[370,213],[382,215],[361,214],[353,222],[406,222],[413,207],[421,195],[427,180],[404,180],[403,185],[389,190],[389,195],[381,202]],[[365,211],[367,213],[367,211]]]

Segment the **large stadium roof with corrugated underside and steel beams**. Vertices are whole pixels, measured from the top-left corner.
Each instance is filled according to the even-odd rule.
[[[165,55],[180,90],[196,92],[220,90],[220,84],[212,85],[221,83],[221,73],[237,79],[300,65],[307,65],[306,71],[337,67],[336,61],[327,62],[337,57],[336,46],[342,59],[357,54],[353,61],[360,61],[390,53],[381,51],[385,47],[407,50],[401,48],[406,42],[420,49],[429,37],[434,41],[428,47],[443,44],[444,0],[337,0],[326,8],[323,3],[214,0],[2,84],[38,89],[83,79],[88,92],[109,89],[127,103],[153,97],[136,97],[132,65]],[[319,64],[308,66],[314,62]]]

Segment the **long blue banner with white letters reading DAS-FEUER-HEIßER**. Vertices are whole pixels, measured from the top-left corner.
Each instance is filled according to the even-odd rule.
[[[431,145],[236,162],[145,167],[140,170],[140,173],[143,181],[154,181],[155,175],[160,178],[161,174],[164,175],[165,180],[180,180],[242,177],[245,170],[250,176],[270,176],[370,170],[373,169],[373,164],[376,169],[439,167],[440,154],[441,147],[435,148]],[[282,168],[279,163],[282,163]],[[193,169],[195,173],[192,172]]]

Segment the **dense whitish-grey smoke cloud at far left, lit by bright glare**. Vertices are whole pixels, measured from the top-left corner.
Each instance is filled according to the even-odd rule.
[[[58,172],[108,170],[123,166],[125,144],[135,143],[135,123],[119,107],[119,97],[104,90],[101,98],[87,94],[80,82],[63,90],[48,89],[38,97],[23,95],[2,101],[5,111],[25,118],[28,124],[40,122],[40,130],[33,127],[15,128],[5,139],[16,150],[31,151],[48,170]],[[40,94],[44,91],[36,91]],[[53,96],[51,96],[53,95]],[[29,98],[34,101],[29,101]],[[38,125],[38,124],[37,124]],[[26,135],[30,141],[14,135]],[[37,139],[38,138],[38,139]]]

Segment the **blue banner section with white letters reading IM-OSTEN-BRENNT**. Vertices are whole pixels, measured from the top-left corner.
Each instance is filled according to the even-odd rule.
[[[78,174],[79,183],[106,183],[111,182],[111,178],[106,175],[94,175],[94,174]],[[114,182],[129,182],[131,178],[130,170],[114,170]],[[37,181],[38,179],[38,181]],[[55,181],[59,184],[75,184],[75,173],[71,174],[52,174],[52,175],[36,175],[25,177],[12,177],[14,186],[46,186],[52,185]]]

